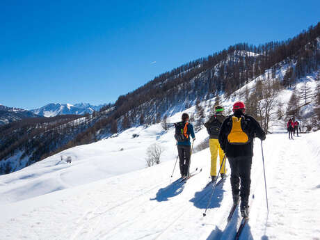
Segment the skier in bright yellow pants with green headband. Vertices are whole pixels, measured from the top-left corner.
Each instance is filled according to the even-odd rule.
[[[207,131],[209,134],[209,147],[211,152],[210,175],[211,175],[212,182],[216,181],[217,179],[216,159],[218,157],[218,152],[219,152],[219,158],[220,158],[219,166],[221,166],[223,158],[225,157],[225,153],[221,149],[220,143],[218,141],[220,127],[223,123],[223,120],[225,120],[225,116],[223,115],[223,106],[218,105],[214,109],[216,113],[212,115],[211,118],[205,123],[205,127],[207,128]],[[220,171],[222,178],[225,178],[225,173],[226,173],[225,161]]]

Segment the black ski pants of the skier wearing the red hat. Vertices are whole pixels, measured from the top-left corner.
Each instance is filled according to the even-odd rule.
[[[227,157],[231,168],[231,189],[232,195],[241,197],[241,206],[248,206],[250,195],[250,174],[252,157]],[[241,184],[241,186],[240,186]],[[239,188],[240,186],[240,188]]]

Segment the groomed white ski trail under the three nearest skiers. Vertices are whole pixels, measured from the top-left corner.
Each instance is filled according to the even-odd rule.
[[[250,220],[240,239],[319,239],[319,136],[270,134],[263,142],[269,216],[255,140]],[[170,184],[179,178],[176,169],[170,179],[174,161],[1,205],[1,239],[234,239],[241,217],[236,209],[227,225],[230,176],[217,186],[204,218],[209,150],[193,154],[191,170],[202,172],[184,183]]]

